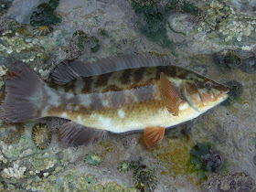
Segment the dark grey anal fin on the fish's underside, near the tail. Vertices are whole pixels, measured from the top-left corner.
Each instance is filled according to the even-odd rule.
[[[59,129],[58,140],[64,146],[79,146],[99,141],[106,131],[86,127],[79,123],[64,123]]]

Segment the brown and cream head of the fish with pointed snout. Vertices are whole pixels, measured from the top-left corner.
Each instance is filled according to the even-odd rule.
[[[228,98],[229,88],[208,78],[197,76],[197,79],[185,82],[182,92],[195,110],[206,112]]]

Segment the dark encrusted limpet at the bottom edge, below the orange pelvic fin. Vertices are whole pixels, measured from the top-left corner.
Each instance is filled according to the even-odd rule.
[[[157,178],[154,170],[146,165],[140,165],[136,170],[134,170],[133,181],[135,183],[135,187],[144,192],[154,191],[157,184]]]

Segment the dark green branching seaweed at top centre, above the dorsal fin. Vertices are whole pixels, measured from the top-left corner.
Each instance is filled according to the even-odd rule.
[[[168,16],[177,11],[193,16],[198,16],[199,13],[199,9],[194,4],[183,1],[183,5],[180,5],[179,0],[167,0],[163,5],[157,4],[154,0],[132,1],[131,6],[134,12],[143,18],[139,23],[142,34],[162,48],[172,50],[173,55],[176,55],[175,46],[166,34],[166,26],[169,24]],[[186,36],[185,33],[178,32],[170,25],[168,26],[173,32]]]

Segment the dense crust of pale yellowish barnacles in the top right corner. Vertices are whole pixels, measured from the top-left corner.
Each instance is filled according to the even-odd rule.
[[[207,32],[207,37],[213,43],[221,46],[248,46],[248,42],[255,41],[255,16],[241,14],[229,1],[212,1],[202,10],[204,17],[199,32]],[[242,22],[241,22],[242,21]]]

